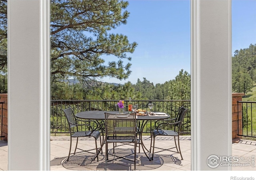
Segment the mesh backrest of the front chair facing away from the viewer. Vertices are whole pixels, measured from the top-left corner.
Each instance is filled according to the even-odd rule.
[[[136,127],[136,113],[111,114],[105,112],[106,135],[134,135],[136,133]]]

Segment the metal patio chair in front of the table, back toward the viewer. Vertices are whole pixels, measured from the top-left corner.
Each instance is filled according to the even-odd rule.
[[[119,158],[130,160],[134,162],[134,170],[136,170],[136,147],[137,147],[137,122],[136,113],[131,114],[111,114],[105,112],[105,147],[106,147],[106,159],[105,170],[107,170],[107,162],[113,161]],[[113,144],[113,149],[109,151],[108,144]],[[121,143],[121,145],[120,145]],[[134,151],[131,154],[118,156],[115,153],[117,146],[123,144],[134,144]],[[134,160],[126,158],[134,154]],[[113,155],[114,159],[109,160],[108,156]]]

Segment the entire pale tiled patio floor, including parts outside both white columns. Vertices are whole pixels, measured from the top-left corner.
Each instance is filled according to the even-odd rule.
[[[75,141],[74,141],[75,142]],[[143,142],[146,147],[150,146],[149,136],[143,136]],[[168,142],[168,143],[167,143]],[[75,145],[75,143],[73,143]],[[172,138],[157,138],[156,146],[164,146],[170,148],[174,145]],[[70,138],[67,136],[54,136],[50,139],[50,170],[51,171],[67,171],[67,170],[100,170],[104,171],[105,167],[105,149],[103,146],[103,154],[99,155],[99,161],[92,161],[94,154],[89,152],[80,152],[70,156],[70,160],[66,161],[68,150],[70,146]],[[100,143],[98,142],[98,146]],[[82,149],[94,148],[94,140],[92,138],[83,138],[79,140],[78,147]],[[110,146],[111,147],[111,146]],[[74,146],[72,146],[74,148]],[[150,170],[150,171],[190,171],[191,170],[191,137],[180,137],[180,148],[182,150],[183,160],[180,154],[164,151],[156,153],[154,160],[149,161],[146,155],[140,149],[138,153],[137,148],[137,164],[136,170]],[[120,154],[126,154],[130,150],[129,145],[120,146],[116,149]],[[79,152],[79,150],[78,150]],[[92,151],[94,152],[94,151]],[[256,155],[256,142],[249,140],[240,140],[238,143],[232,144],[232,156],[238,157],[252,157]],[[113,158],[110,156],[109,158]],[[131,156],[132,158],[132,156]],[[0,141],[0,170],[8,170],[8,146],[6,141]],[[134,163],[129,160],[118,159],[108,162],[107,170],[134,170]],[[232,167],[232,170],[256,170],[252,166]]]

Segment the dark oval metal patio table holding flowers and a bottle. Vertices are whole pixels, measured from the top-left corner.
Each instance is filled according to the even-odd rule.
[[[118,114],[118,111],[82,111],[82,112],[78,112],[76,114],[76,117],[79,119],[88,119],[88,120],[97,120],[97,121],[102,121],[104,122],[105,120],[105,114],[104,112],[108,112],[108,113],[112,113],[112,114]],[[124,113],[128,113],[128,112],[124,112]],[[140,139],[138,144],[141,144],[142,146],[142,150],[144,152],[144,154],[146,155],[146,157],[148,158],[148,160],[151,160],[151,158],[148,156],[147,152],[149,152],[149,150],[145,147],[145,145],[143,144],[142,141],[142,130],[144,128],[144,126],[146,125],[146,123],[148,121],[152,121],[152,120],[163,120],[163,119],[168,119],[170,118],[169,114],[166,115],[145,115],[145,116],[137,116],[137,120],[139,120],[139,126],[138,128],[140,129]],[[140,126],[140,122],[141,122],[141,126]],[[146,152],[147,151],[147,152]]]

